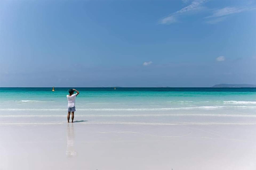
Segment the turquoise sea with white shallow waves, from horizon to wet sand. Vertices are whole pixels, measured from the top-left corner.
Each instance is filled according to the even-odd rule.
[[[0,122],[64,122],[68,88],[0,88]],[[91,122],[255,122],[256,88],[77,88]],[[29,118],[28,118],[29,117]]]

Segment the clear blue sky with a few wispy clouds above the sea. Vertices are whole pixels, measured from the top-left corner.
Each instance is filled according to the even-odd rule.
[[[256,1],[0,1],[0,87],[256,84]]]

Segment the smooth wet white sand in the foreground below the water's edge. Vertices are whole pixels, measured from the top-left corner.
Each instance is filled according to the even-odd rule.
[[[256,125],[1,124],[0,169],[255,169]]]

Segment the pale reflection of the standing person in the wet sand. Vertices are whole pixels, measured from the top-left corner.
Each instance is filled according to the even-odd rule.
[[[67,126],[67,151],[66,155],[68,157],[76,156],[76,151],[74,149],[74,142],[75,142],[75,133],[74,133],[74,124],[68,123]]]

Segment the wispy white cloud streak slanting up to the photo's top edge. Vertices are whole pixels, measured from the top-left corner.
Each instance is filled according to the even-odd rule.
[[[194,0],[193,2],[191,2],[190,5],[181,8],[181,10],[176,11],[176,12],[174,12],[174,13],[168,15],[168,16],[165,16],[164,18],[159,20],[159,23],[161,23],[161,24],[171,24],[171,23],[177,22],[178,21],[177,20],[178,15],[184,14],[184,13],[189,12],[189,11],[198,10],[199,8],[201,8],[201,5],[206,1],[208,1],[208,0]],[[185,1],[183,1],[183,2],[185,2]]]

